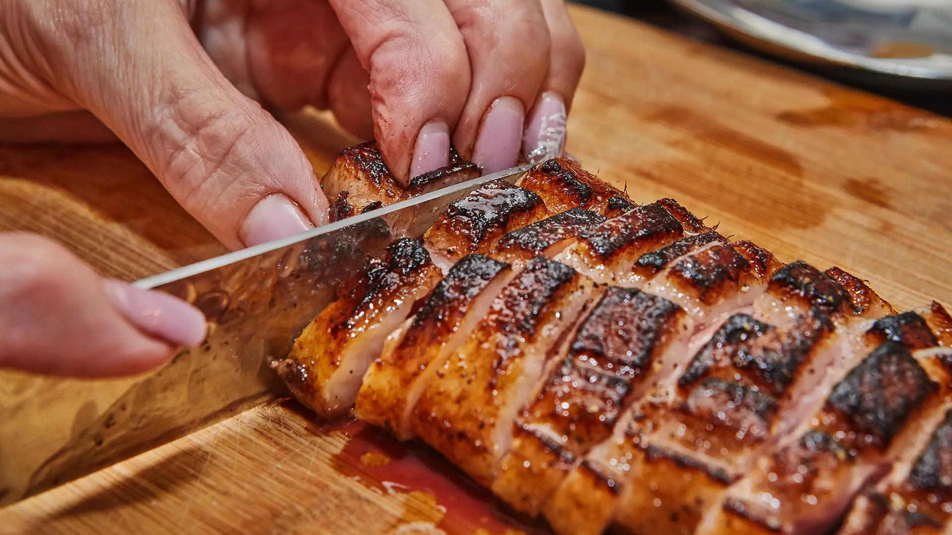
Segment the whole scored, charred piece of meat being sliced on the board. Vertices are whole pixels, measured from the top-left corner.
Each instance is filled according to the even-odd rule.
[[[404,190],[365,145],[326,190],[356,213],[475,172],[454,164]],[[843,535],[949,535],[950,346],[938,303],[897,313],[555,159],[371,261],[278,370],[560,534],[823,533],[848,512]]]

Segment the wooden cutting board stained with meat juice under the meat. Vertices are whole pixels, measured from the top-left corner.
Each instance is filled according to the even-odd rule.
[[[637,201],[670,196],[896,307],[952,304],[952,122],[573,7],[588,50],[569,151]],[[318,173],[353,143],[288,124]],[[225,249],[119,147],[0,147],[0,230],[134,280]],[[423,453],[420,453],[423,451]],[[250,410],[0,510],[0,533],[533,532],[446,463],[293,407]]]

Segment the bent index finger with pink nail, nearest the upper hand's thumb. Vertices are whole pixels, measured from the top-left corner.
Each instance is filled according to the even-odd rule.
[[[370,73],[374,134],[403,184],[446,165],[471,82],[463,36],[440,0],[330,0]],[[415,156],[414,156],[415,155]]]

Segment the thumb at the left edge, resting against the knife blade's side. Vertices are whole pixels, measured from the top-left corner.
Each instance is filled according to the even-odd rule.
[[[131,375],[202,342],[205,316],[168,294],[102,279],[38,236],[0,234],[0,367]]]

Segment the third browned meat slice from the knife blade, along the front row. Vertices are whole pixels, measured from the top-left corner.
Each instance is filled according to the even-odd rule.
[[[490,485],[520,407],[539,390],[560,336],[593,290],[574,269],[537,257],[493,301],[466,343],[435,368],[413,409],[416,434]]]

